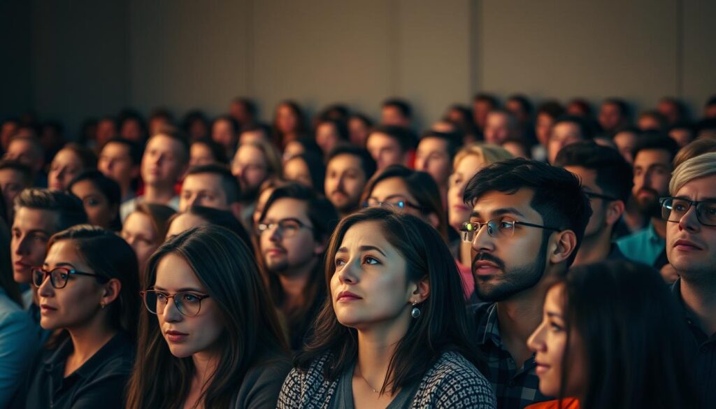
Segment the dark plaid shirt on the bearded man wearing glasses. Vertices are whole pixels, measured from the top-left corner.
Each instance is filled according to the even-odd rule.
[[[548,400],[539,392],[534,355],[517,367],[500,340],[497,304],[484,302],[470,307],[477,327],[478,369],[488,378],[497,397],[498,409],[521,409]]]

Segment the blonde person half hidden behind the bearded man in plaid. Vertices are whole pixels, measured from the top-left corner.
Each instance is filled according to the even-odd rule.
[[[453,160],[453,173],[450,175],[450,188],[448,189],[448,224],[453,230],[460,231],[463,223],[470,219],[471,209],[463,201],[468,181],[485,166],[511,158],[512,155],[504,148],[487,143],[475,143],[458,150]],[[472,304],[477,299],[474,297],[475,278],[471,267],[473,257],[470,254],[470,249],[472,249],[470,243],[459,239],[450,243],[450,252],[453,253],[458,264],[458,271],[463,279],[465,299]]]

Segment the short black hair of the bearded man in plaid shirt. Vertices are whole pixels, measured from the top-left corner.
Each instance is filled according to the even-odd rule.
[[[545,226],[574,231],[577,245],[567,260],[567,266],[570,266],[591,217],[589,198],[572,173],[536,160],[502,160],[483,168],[470,179],[463,200],[474,206],[485,193],[514,194],[521,188],[534,192],[530,206],[540,213]],[[548,232],[545,229],[545,234]]]

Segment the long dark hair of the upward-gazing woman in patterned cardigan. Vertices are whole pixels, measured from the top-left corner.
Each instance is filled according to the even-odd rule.
[[[382,228],[376,234],[383,234],[405,259],[408,280],[417,282],[427,277],[430,282],[430,296],[418,305],[420,318],[411,320],[407,333],[398,342],[381,392],[395,393],[420,380],[448,350],[458,351],[475,362],[458,267],[440,234],[420,218],[384,208],[367,208],[344,218],[326,252],[326,286],[336,270],[334,257],[346,232],[367,221],[379,223]],[[323,375],[328,380],[337,379],[357,359],[357,331],[338,322],[331,297],[326,299],[314,327],[314,337],[296,356],[294,365],[307,370],[311,362],[330,352]]]

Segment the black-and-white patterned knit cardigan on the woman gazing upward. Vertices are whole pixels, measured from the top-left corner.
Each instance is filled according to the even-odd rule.
[[[279,409],[327,409],[338,380],[323,377],[329,354],[311,363],[306,372],[294,368],[284,381]],[[495,393],[475,365],[457,352],[445,352],[425,372],[410,405],[411,409],[494,409]]]

